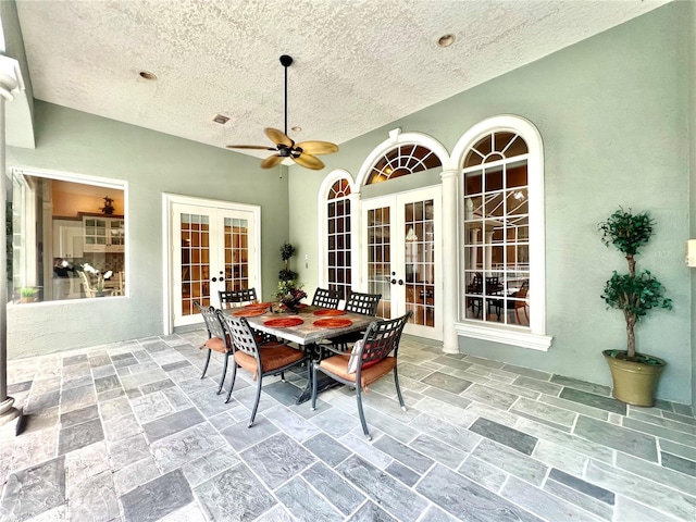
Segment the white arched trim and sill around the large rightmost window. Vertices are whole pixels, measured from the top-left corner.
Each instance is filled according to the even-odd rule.
[[[547,351],[551,346],[552,337],[546,335],[546,229],[544,221],[544,148],[542,135],[527,120],[504,114],[484,120],[471,127],[459,139],[452,150],[452,163],[459,171],[459,186],[463,183],[463,161],[469,149],[478,139],[493,132],[511,132],[519,134],[527,145],[527,194],[530,207],[530,327],[521,328],[509,325],[483,323],[481,321],[461,319],[463,314],[462,296],[464,295],[465,281],[459,281],[459,321],[455,323],[457,334],[462,337],[471,337],[490,340],[506,345],[519,346],[534,350]],[[449,165],[449,166],[453,166]],[[461,198],[460,198],[461,199]],[[463,217],[464,206],[457,201],[458,210],[458,266],[462,274],[463,254]]]

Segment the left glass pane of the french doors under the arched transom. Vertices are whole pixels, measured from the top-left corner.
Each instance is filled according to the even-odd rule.
[[[389,209],[368,211],[368,291],[382,294],[377,316],[391,316]]]

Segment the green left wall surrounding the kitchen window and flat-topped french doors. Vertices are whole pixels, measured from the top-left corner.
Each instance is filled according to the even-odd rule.
[[[160,335],[163,331],[162,194],[261,207],[263,296],[277,284],[288,237],[287,176],[259,160],[36,101],[36,149],[8,147],[13,167],[127,182],[128,298],[10,307],[10,358]]]

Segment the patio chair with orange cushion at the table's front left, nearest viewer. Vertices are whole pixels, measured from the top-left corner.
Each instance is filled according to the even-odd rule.
[[[237,366],[241,366],[253,374],[257,381],[257,397],[251,410],[248,427],[253,425],[253,420],[259,409],[259,399],[261,398],[261,386],[263,377],[268,375],[281,375],[281,381],[285,382],[285,371],[290,368],[307,362],[307,378],[309,378],[309,357],[290,346],[281,343],[266,343],[259,346],[253,331],[249,327],[249,323],[245,318],[235,315],[223,315],[217,310],[217,316],[227,327],[227,332],[232,336],[232,346],[234,350],[232,364],[232,382],[229,383],[229,391],[225,402],[229,402],[232,390],[235,386],[235,377],[237,375]]]

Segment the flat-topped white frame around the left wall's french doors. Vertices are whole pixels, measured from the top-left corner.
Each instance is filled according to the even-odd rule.
[[[162,332],[170,335],[174,332],[174,303],[172,302],[172,273],[174,265],[174,244],[172,241],[173,216],[172,207],[174,204],[190,204],[195,207],[209,207],[225,210],[241,210],[253,213],[254,228],[252,232],[256,241],[256,249],[251,253],[249,264],[253,265],[257,273],[257,286],[262,288],[261,283],[261,207],[258,204],[235,203],[216,199],[194,198],[177,194],[162,194],[162,310],[164,318]]]

